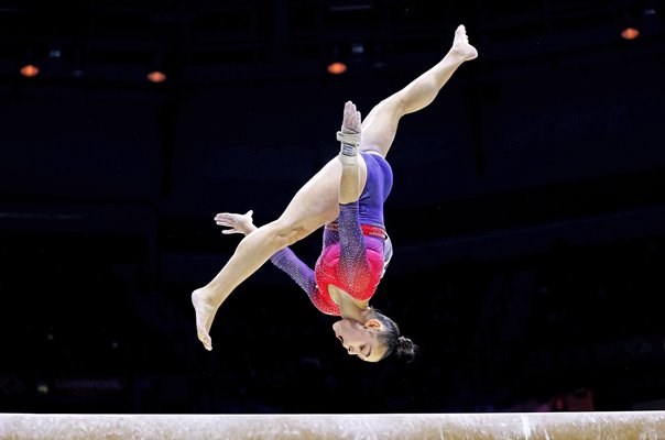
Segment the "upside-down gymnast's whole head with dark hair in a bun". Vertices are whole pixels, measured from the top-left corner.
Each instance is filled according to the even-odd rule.
[[[335,336],[344,349],[366,362],[379,362],[395,354],[411,362],[417,354],[417,345],[400,334],[397,324],[375,309],[368,309],[366,321],[342,318],[332,324]]]

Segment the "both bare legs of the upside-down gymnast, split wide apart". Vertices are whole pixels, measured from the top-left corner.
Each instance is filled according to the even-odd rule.
[[[400,119],[428,106],[455,70],[476,56],[478,53],[469,44],[465,28],[459,26],[453,47],[438,64],[372,109],[362,123],[361,150],[375,150],[386,155]],[[367,169],[359,168],[359,172],[362,187]],[[212,349],[208,333],[215,314],[231,292],[272,254],[337,218],[340,177],[341,163],[336,157],[298,190],[277,220],[247,235],[219,274],[206,286],[194,290],[192,302],[197,334],[207,350]]]

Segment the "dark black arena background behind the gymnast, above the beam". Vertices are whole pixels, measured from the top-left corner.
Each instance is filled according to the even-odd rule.
[[[662,1],[0,4],[0,411],[665,408]],[[240,241],[214,216],[280,216],[344,102],[367,114],[459,23],[479,58],[389,155],[372,305],[416,362],[348,356],[270,263],[204,350],[189,295]],[[320,231],[294,250],[314,264]]]

